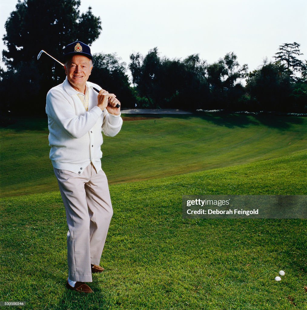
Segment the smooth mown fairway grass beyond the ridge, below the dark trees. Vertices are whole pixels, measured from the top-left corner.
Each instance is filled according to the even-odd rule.
[[[278,158],[306,149],[307,118],[199,114],[137,121],[105,137],[109,183],[184,174]],[[134,116],[135,117],[135,116]],[[0,130],[3,196],[58,190],[49,160],[47,120]]]

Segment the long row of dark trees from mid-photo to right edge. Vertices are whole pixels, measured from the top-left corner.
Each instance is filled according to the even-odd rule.
[[[248,72],[234,52],[213,64],[198,54],[184,60],[161,58],[154,48],[144,57],[130,55],[132,82],[139,105],[149,108],[224,109],[228,111],[307,112],[306,63],[299,44],[276,53],[274,63]],[[290,44],[292,46],[292,44]],[[279,47],[283,51],[288,43]],[[293,52],[292,52],[293,51]],[[246,85],[243,86],[243,82]]]

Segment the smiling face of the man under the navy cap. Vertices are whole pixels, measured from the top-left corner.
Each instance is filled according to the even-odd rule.
[[[85,82],[91,75],[91,60],[83,55],[74,55],[64,66],[68,81],[74,89],[83,91]]]

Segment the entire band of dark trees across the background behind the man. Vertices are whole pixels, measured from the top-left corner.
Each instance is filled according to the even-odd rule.
[[[80,14],[79,6],[80,0],[59,0],[56,6],[18,0],[3,36],[2,123],[11,117],[45,116],[47,91],[65,79],[64,69],[51,58],[36,59],[40,50],[61,61],[67,44],[80,40],[90,45],[99,37],[100,17],[91,7]],[[199,54],[183,60],[162,57],[154,47],[147,55],[130,55],[128,68],[116,54],[98,53],[89,80],[116,93],[123,107],[306,113],[307,61],[300,55],[299,43],[284,43],[273,62],[249,72],[234,52],[208,64]]]

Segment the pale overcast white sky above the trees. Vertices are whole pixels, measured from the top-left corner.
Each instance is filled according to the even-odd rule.
[[[17,1],[0,3],[2,38]],[[154,47],[168,58],[198,53],[210,64],[233,51],[251,71],[286,42],[300,43],[300,59],[307,59],[306,0],[81,0],[80,11],[89,6],[103,28],[92,53],[116,52],[127,64],[131,53]]]

